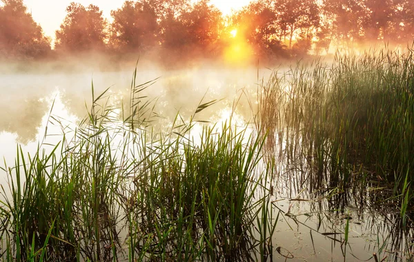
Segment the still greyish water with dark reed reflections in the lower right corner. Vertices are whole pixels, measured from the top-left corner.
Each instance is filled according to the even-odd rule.
[[[288,180],[284,182],[292,182]],[[397,210],[384,212],[377,205],[367,205],[370,199],[366,195],[360,199],[360,192],[329,197],[330,193],[279,189],[273,208],[282,210],[284,217],[277,225],[274,244],[300,261],[343,261],[344,257],[346,261],[368,261],[374,253],[380,261],[409,261],[413,255],[412,225],[404,229]]]

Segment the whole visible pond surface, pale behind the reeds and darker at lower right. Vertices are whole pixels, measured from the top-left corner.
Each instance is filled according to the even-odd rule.
[[[255,70],[153,70],[142,72],[136,81],[144,83],[160,76],[159,81],[145,90],[146,96],[158,99],[155,112],[162,117],[160,122],[172,121],[177,111],[181,117],[190,116],[201,99],[223,100],[196,120],[215,122],[232,116],[237,125],[246,125],[247,119],[252,119],[257,90]],[[262,76],[266,77],[266,71]],[[85,107],[90,106],[92,78],[95,92],[113,85],[110,93],[115,99],[111,103],[120,106],[129,100],[129,72],[98,73],[93,77],[91,74],[0,76],[1,90],[8,90],[7,96],[0,97],[0,156],[12,163],[16,143],[23,143],[23,152],[35,150],[39,141],[43,141],[46,125],[49,136],[43,143],[57,143],[62,129],[74,128],[77,120],[84,117]],[[237,114],[229,109],[233,101],[237,101]],[[283,151],[286,147],[277,137],[272,143],[271,149],[279,147]],[[275,156],[277,152],[270,150],[269,154]],[[406,228],[402,227],[397,201],[394,205],[375,204],[377,194],[386,194],[375,183],[371,183],[371,188],[355,185],[353,190],[338,192],[330,187],[333,178],[313,176],[315,172],[309,172],[306,160],[291,165],[281,155],[277,161],[275,177],[268,181],[274,191],[273,217],[280,214],[272,239],[273,257],[277,261],[290,256],[295,261],[373,261],[373,253],[377,253],[380,261],[408,261],[412,256],[411,221]]]

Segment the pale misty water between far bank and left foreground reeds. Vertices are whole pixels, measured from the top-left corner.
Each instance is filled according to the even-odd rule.
[[[1,68],[1,67],[0,67]],[[75,125],[86,117],[92,101],[92,82],[95,95],[110,88],[110,101],[115,107],[128,106],[134,66],[121,70],[101,70],[80,65],[76,70],[53,70],[45,64],[37,71],[19,72],[3,67],[0,73],[0,155],[12,161],[16,143],[36,148],[43,139],[50,110],[51,116]],[[154,99],[160,122],[172,121],[176,114],[190,117],[201,101],[219,102],[199,114],[198,120],[208,121],[226,117],[237,101],[237,112],[246,121],[252,119],[257,83],[266,79],[271,70],[264,68],[218,68],[213,65],[190,69],[164,70],[153,65],[137,68],[136,85],[155,80],[143,96]],[[259,79],[259,81],[258,81]],[[53,105],[53,107],[52,107]],[[55,122],[55,121],[52,121]],[[58,125],[48,124],[48,134],[61,133]]]

